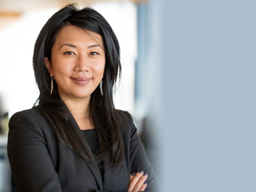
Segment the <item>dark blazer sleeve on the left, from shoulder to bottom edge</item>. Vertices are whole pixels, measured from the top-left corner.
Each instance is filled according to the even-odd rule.
[[[33,117],[17,112],[10,118],[7,154],[19,192],[62,192],[46,145]]]

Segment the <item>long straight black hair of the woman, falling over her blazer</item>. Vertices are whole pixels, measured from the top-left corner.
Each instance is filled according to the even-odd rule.
[[[100,85],[92,92],[89,115],[95,124],[99,139],[99,149],[96,156],[90,155],[79,135],[75,124],[68,115],[69,111],[60,99],[57,83],[53,81],[53,91],[50,95],[51,78],[44,64],[44,57],[51,60],[52,46],[60,30],[67,25],[100,34],[105,48],[105,68],[102,78],[103,96]],[[121,80],[120,48],[112,28],[104,17],[92,8],[79,9],[76,3],[68,4],[45,23],[35,43],[33,68],[40,95],[38,102],[40,112],[48,119],[56,137],[79,157],[91,161],[101,168],[102,160],[110,155],[109,162],[104,167],[121,166],[124,158],[124,143],[122,141],[122,121],[120,110],[115,109],[113,90],[116,92],[117,80]],[[73,123],[72,123],[73,122]]]

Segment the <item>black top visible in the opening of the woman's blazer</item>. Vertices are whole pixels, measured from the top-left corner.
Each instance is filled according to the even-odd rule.
[[[86,129],[86,130],[82,130],[83,134],[84,134],[84,137],[85,139],[87,140],[91,150],[92,150],[92,153],[94,156],[97,156],[97,149],[99,148],[99,140],[96,136],[96,131],[95,129]],[[102,162],[101,162],[101,165],[102,165]],[[102,182],[103,182],[103,175],[104,175],[104,169],[99,169],[100,170],[100,174],[101,174],[101,179],[102,179]]]

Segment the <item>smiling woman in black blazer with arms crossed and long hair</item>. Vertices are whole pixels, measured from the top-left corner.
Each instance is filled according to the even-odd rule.
[[[119,44],[98,12],[77,4],[56,12],[36,40],[33,68],[39,98],[9,122],[20,192],[159,191],[132,116],[114,108]]]

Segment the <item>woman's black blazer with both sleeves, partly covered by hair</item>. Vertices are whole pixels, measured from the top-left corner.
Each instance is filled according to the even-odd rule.
[[[148,186],[145,191],[161,191],[161,184],[148,161],[132,116],[127,111],[121,113],[125,120],[123,166],[112,171],[104,170],[103,183],[98,168],[89,161],[79,158],[70,148],[56,139],[49,122],[39,112],[37,106],[15,113],[9,121],[7,154],[18,190],[20,192],[124,192],[129,186],[130,173],[142,169],[148,174]],[[70,112],[69,115],[76,124]],[[92,153],[77,124],[76,131]]]

